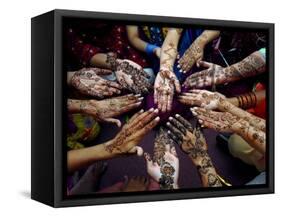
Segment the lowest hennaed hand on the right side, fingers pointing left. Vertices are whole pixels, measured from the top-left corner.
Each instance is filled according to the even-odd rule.
[[[243,119],[229,112],[215,112],[204,108],[194,107],[191,109],[194,116],[199,119],[199,123],[218,132],[235,132]]]

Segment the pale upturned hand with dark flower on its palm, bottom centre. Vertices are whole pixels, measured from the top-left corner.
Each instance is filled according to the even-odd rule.
[[[160,128],[154,142],[153,159],[144,153],[147,173],[159,183],[162,190],[178,188],[179,159],[174,144],[167,131]]]

